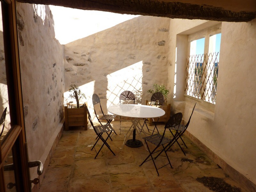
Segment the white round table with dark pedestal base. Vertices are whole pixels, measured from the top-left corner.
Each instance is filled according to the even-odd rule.
[[[140,135],[141,131],[145,134],[144,130],[142,129],[142,126],[140,124],[140,118],[153,118],[153,117],[160,117],[165,114],[164,110],[161,108],[148,106],[148,105],[133,105],[133,104],[119,104],[119,105],[112,105],[108,107],[108,111],[112,114],[118,115],[118,116],[125,116],[125,117],[131,117],[132,118],[132,126],[130,127],[129,131],[130,134],[127,138],[130,137],[131,133],[133,132],[132,140],[126,140],[124,139],[124,144],[129,147],[140,147],[144,144],[144,141],[142,142],[140,140],[136,140],[136,131],[138,135]],[[140,127],[139,127],[140,125]],[[131,130],[131,128],[133,129]],[[124,147],[124,144],[122,148]],[[145,144],[144,144],[145,146]],[[145,146],[146,147],[146,146]]]

